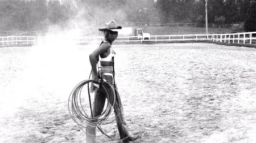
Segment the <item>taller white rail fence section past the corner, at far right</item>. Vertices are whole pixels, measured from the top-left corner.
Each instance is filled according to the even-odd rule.
[[[245,33],[226,33],[226,34],[210,34],[211,41],[220,41],[237,43],[237,44],[252,44],[253,40],[256,40],[256,32],[245,32]]]

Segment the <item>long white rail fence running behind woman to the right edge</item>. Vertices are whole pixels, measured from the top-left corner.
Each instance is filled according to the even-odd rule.
[[[256,40],[256,32],[246,33],[226,33],[226,34],[180,34],[180,35],[154,35],[149,40],[142,40],[140,36],[118,37],[115,42],[171,42],[171,41],[220,41],[220,42],[236,42],[238,44],[252,44]],[[104,37],[83,37],[78,40],[79,44],[91,42],[100,42]]]

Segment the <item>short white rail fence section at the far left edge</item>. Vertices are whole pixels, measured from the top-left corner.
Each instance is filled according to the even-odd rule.
[[[0,37],[0,46],[35,45],[36,36],[6,36]]]

